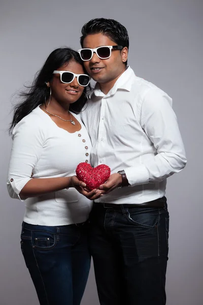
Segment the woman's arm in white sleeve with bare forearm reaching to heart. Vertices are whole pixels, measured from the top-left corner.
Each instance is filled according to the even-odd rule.
[[[31,178],[32,171],[41,158],[45,140],[46,128],[37,115],[25,117],[14,128],[7,180],[12,198],[22,200],[70,187],[85,186],[76,176]]]

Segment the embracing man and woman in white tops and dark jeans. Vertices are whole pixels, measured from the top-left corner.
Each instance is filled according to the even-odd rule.
[[[127,66],[128,46],[119,22],[90,20],[82,49],[53,51],[15,108],[7,185],[26,199],[21,250],[41,305],[79,305],[90,256],[101,305],[165,304],[166,178],[185,151],[171,98]],[[111,176],[89,191],[80,162]]]

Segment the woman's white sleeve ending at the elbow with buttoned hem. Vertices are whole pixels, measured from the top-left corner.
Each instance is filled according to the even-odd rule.
[[[38,118],[39,120],[39,118]],[[7,188],[11,198],[20,199],[19,193],[31,179],[42,152],[44,135],[35,118],[22,119],[12,133],[13,143],[8,170]]]

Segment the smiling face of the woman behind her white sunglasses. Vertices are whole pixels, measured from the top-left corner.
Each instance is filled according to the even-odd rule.
[[[83,67],[74,60],[64,64],[57,70],[84,74]],[[65,84],[61,82],[60,74],[53,74],[50,85],[52,98],[54,98],[56,102],[64,105],[75,103],[81,97],[84,90],[84,87],[79,85],[77,77],[75,77],[71,83]]]

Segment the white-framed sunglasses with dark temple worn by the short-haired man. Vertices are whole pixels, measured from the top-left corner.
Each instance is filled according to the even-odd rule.
[[[103,46],[103,47],[98,47],[95,49],[80,49],[78,50],[81,59],[84,62],[87,62],[88,60],[92,59],[93,53],[95,52],[96,55],[100,59],[107,59],[111,56],[111,50],[122,50],[123,46]]]

